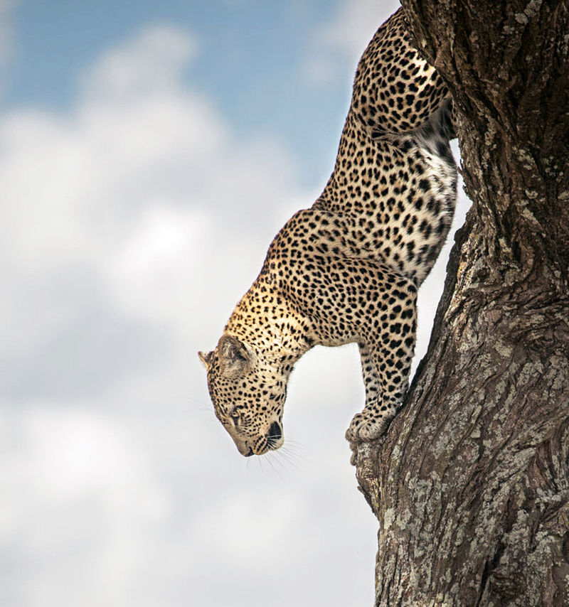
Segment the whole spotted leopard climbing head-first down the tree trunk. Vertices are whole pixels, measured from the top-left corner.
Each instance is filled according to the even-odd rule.
[[[289,377],[315,345],[358,345],[366,402],[346,439],[385,433],[408,390],[418,288],[452,222],[454,124],[450,92],[398,9],[358,63],[324,190],[272,240],[216,348],[198,353],[243,456],[284,443]]]

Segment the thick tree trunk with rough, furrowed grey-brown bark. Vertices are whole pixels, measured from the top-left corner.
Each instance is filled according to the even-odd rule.
[[[376,606],[569,606],[569,6],[403,0],[472,209],[430,348],[354,447]]]

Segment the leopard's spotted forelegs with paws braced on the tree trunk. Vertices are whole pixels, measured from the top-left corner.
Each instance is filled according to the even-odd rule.
[[[346,439],[352,443],[371,441],[385,432],[409,384],[416,333],[415,286],[407,279],[398,279],[386,299],[379,331],[373,332],[367,343],[359,344],[366,406],[346,431]]]

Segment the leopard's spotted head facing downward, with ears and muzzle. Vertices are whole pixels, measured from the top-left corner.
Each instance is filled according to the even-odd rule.
[[[216,417],[245,456],[279,448],[287,378],[251,345],[224,334],[215,350],[198,353],[208,372]]]

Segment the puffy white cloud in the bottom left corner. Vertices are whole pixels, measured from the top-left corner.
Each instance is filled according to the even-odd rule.
[[[171,512],[151,462],[116,416],[38,402],[3,419],[18,451],[0,463],[0,554],[25,575],[3,604],[115,603]]]

